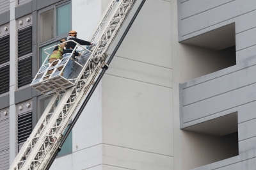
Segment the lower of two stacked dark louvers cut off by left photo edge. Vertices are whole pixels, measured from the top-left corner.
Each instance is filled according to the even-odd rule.
[[[10,66],[6,65],[0,68],[0,94],[9,91],[10,86]]]

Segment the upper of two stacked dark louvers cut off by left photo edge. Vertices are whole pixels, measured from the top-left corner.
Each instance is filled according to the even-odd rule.
[[[0,65],[10,61],[10,35],[0,38]]]

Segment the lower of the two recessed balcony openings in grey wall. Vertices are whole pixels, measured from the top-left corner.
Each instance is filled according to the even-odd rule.
[[[182,170],[239,155],[237,112],[183,129]]]

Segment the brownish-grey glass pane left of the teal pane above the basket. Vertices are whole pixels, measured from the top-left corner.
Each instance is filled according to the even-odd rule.
[[[40,14],[40,42],[54,38],[54,9]]]

